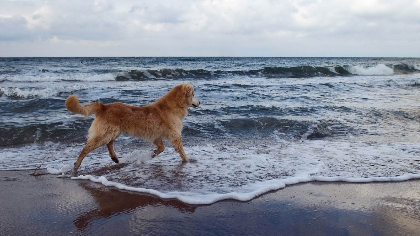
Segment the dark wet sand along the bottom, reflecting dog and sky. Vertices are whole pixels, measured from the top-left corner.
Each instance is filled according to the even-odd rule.
[[[0,235],[420,235],[420,180],[310,182],[186,205],[91,181],[0,171]]]

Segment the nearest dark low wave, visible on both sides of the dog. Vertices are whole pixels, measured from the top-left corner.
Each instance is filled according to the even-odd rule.
[[[45,111],[40,110],[39,114],[42,115],[42,112]],[[5,115],[8,114],[5,113]],[[2,134],[0,147],[39,145],[45,142],[83,143],[86,141],[87,131],[92,123],[92,119],[85,120],[77,115],[65,121],[52,121],[42,121],[40,118],[6,123],[0,126]],[[291,139],[324,139],[330,136],[349,136],[349,134],[363,132],[333,120],[300,121],[299,118],[261,116],[215,120],[209,123],[189,121],[185,123],[182,135],[189,138],[199,136],[227,138],[231,135],[242,136],[244,139],[255,136],[264,138],[275,130]]]

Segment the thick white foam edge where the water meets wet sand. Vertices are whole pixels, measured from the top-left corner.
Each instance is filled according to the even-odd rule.
[[[323,181],[323,182],[336,182],[336,181],[343,181],[343,182],[352,182],[352,183],[366,183],[366,182],[385,182],[385,181],[406,181],[409,179],[417,179],[420,178],[420,174],[404,174],[402,176],[392,176],[392,177],[369,177],[369,178],[346,178],[346,177],[323,177],[323,176],[294,176],[291,178],[286,179],[279,179],[279,180],[269,180],[265,181],[260,184],[260,188],[256,189],[255,191],[249,193],[236,193],[231,192],[227,194],[194,194],[190,192],[168,192],[162,193],[160,191],[154,189],[143,189],[143,188],[135,188],[126,186],[124,184],[115,183],[113,181],[108,181],[107,178],[104,176],[100,176],[99,178],[95,178],[91,175],[86,176],[77,176],[71,177],[71,179],[84,179],[90,180],[95,183],[100,183],[104,186],[113,186],[117,189],[124,189],[128,191],[136,191],[141,193],[153,194],[157,197],[163,199],[178,199],[181,202],[191,205],[207,205],[212,204],[214,202],[218,202],[220,200],[225,199],[234,199],[238,201],[249,201],[261,194],[264,194],[268,191],[283,189],[286,185],[291,184],[298,184],[310,181]]]

